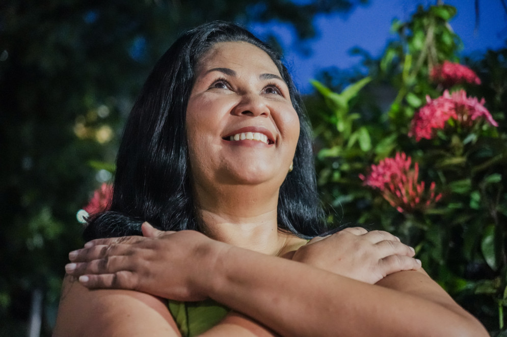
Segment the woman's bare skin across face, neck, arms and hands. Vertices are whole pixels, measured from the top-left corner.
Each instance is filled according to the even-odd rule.
[[[210,297],[233,310],[210,336],[487,336],[391,234],[354,228],[306,244],[278,230],[299,124],[277,76],[248,43],[218,43],[205,55],[186,120],[202,233],[144,223],[143,237],[71,252],[66,271],[79,283],[64,282],[55,335],[177,336],[157,297]],[[244,128],[273,142],[223,139]]]

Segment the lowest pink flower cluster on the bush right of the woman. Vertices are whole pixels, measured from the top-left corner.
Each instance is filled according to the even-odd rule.
[[[365,186],[380,190],[384,199],[398,212],[412,212],[424,210],[433,206],[442,198],[442,194],[435,192],[435,182],[428,191],[424,182],[418,182],[419,164],[410,168],[412,159],[402,153],[396,153],[394,158],[385,158],[378,165],[371,165],[371,172],[365,177],[359,175]]]

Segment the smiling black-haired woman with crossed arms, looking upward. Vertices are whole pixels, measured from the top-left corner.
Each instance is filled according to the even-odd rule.
[[[85,231],[123,237],[69,254],[55,335],[486,336],[394,236],[307,243],[323,231],[310,140],[268,46],[221,22],[183,35],[132,109],[111,210]]]

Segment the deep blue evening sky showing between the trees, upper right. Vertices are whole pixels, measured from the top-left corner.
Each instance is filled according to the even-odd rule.
[[[396,37],[390,33],[393,18],[407,21],[417,9],[417,4],[428,6],[435,3],[436,1],[427,0],[370,0],[369,5],[358,6],[346,15],[318,16],[314,21],[318,36],[305,45],[312,50],[309,57],[297,50],[298,46],[295,45],[288,26],[262,25],[251,29],[261,38],[270,30],[281,39],[286,64],[298,88],[307,93],[311,91],[308,80],[319,69],[357,66],[361,58],[349,54],[355,46],[368,51],[372,57],[379,57],[387,41]],[[458,9],[458,14],[451,19],[450,25],[463,41],[462,55],[480,56],[487,49],[507,47],[507,14],[500,0],[480,1],[477,29],[474,0],[446,0],[444,3]]]

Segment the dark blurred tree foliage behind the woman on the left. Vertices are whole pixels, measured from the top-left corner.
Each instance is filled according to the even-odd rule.
[[[0,2],[0,335],[27,333],[35,290],[50,335],[67,254],[83,244],[76,211],[111,178],[130,106],[181,32],[215,19],[277,22],[302,41],[316,14],[366,2]]]

